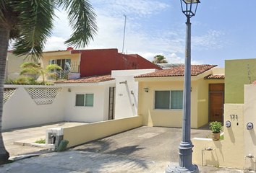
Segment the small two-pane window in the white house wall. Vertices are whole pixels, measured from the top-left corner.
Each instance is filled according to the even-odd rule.
[[[94,94],[76,94],[75,106],[77,107],[93,107]]]

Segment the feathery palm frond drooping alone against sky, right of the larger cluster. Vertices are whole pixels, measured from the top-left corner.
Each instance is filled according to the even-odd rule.
[[[59,5],[63,5],[68,12],[69,25],[73,29],[65,44],[74,48],[84,48],[98,31],[93,6],[87,0],[59,0]]]

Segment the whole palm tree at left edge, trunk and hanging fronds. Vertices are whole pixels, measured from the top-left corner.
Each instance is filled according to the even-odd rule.
[[[73,33],[65,41],[68,46],[85,47],[97,32],[96,14],[88,0],[1,0],[0,1],[0,164],[9,153],[1,135],[4,73],[9,40],[14,40],[14,53],[38,59],[46,39],[53,30],[54,9],[67,11]]]

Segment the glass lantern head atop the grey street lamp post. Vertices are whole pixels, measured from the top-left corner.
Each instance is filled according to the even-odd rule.
[[[195,13],[197,12],[198,3],[200,3],[199,0],[181,0],[182,12],[185,14],[185,16],[188,19],[195,16]],[[183,4],[185,4],[185,5],[183,5]]]

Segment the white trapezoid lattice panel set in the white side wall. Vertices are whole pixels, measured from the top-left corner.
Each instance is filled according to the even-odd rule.
[[[54,102],[61,88],[25,88],[37,105],[49,105]]]

